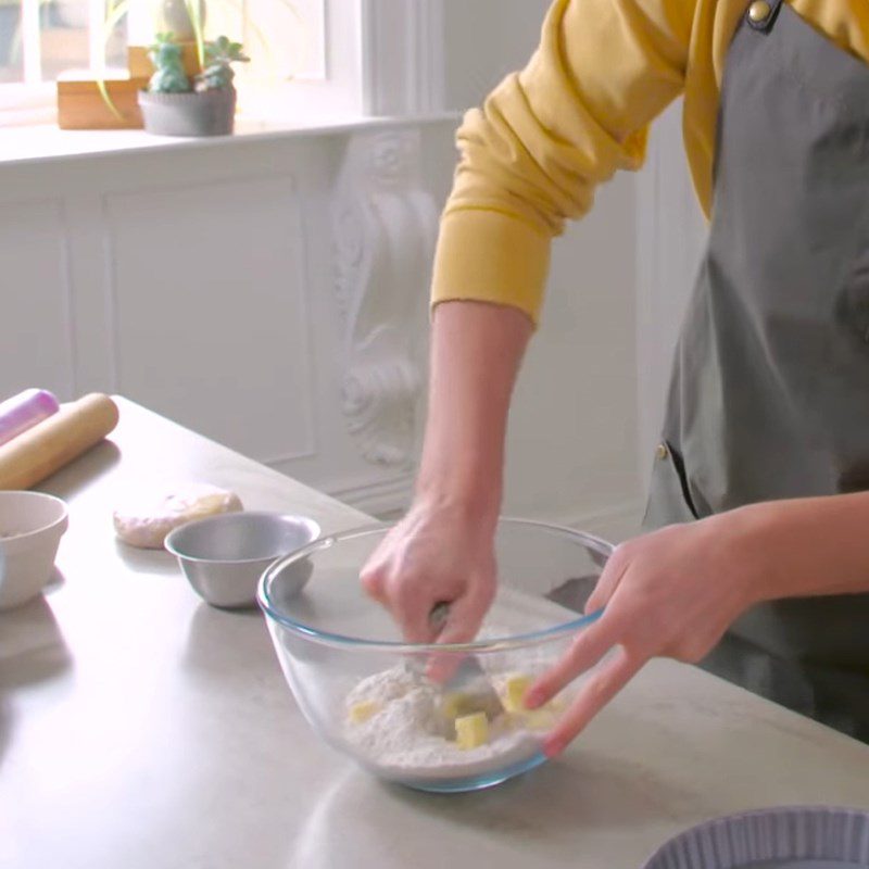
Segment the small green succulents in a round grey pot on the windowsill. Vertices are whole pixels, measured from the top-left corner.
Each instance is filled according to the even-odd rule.
[[[191,81],[181,64],[181,46],[172,34],[159,34],[149,48],[154,74],[139,91],[144,129],[158,136],[226,136],[236,113],[234,63],[249,58],[240,42],[225,36],[204,43],[202,72]]]

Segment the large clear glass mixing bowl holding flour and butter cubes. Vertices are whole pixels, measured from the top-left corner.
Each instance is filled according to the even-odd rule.
[[[498,594],[477,641],[433,646],[402,642],[389,613],[360,583],[388,531],[322,538],[260,580],[260,606],[307,721],[374,774],[426,791],[488,788],[544,763],[543,735],[578,683],[531,714],[521,695],[596,618],[583,608],[612,545],[567,528],[502,519]],[[470,659],[476,679],[431,682],[425,669],[434,651],[462,662],[463,673]],[[481,711],[480,698],[492,691],[501,704]]]

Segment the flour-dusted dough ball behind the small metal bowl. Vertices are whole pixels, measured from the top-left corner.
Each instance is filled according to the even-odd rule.
[[[209,483],[184,483],[168,493],[143,496],[113,514],[117,536],[131,546],[163,549],[166,534],[185,522],[243,509],[239,496]]]

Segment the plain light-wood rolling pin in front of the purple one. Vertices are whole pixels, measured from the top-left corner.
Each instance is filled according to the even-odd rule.
[[[99,443],[117,425],[117,406],[85,395],[0,446],[0,489],[29,489]]]

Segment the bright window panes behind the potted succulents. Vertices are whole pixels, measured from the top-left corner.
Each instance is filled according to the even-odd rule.
[[[154,33],[166,29],[159,16],[164,2],[130,0],[129,14],[106,38],[106,0],[0,0],[0,126],[52,119],[54,81],[59,76],[97,76],[101,71],[109,77],[126,75],[127,45],[148,45]],[[327,48],[331,29],[347,49],[348,16],[329,16],[327,22],[327,5],[353,8],[355,3],[202,2],[206,36],[225,33],[243,42],[251,56],[252,62],[238,75],[242,110],[249,106],[260,114],[276,116],[281,111],[298,111],[300,95],[288,99],[291,90],[302,91],[302,103],[308,109],[340,108],[342,101],[336,100],[335,95],[324,98],[335,89],[329,84],[347,89],[347,71],[342,68],[345,64],[330,68]],[[291,89],[287,88],[288,83]]]

